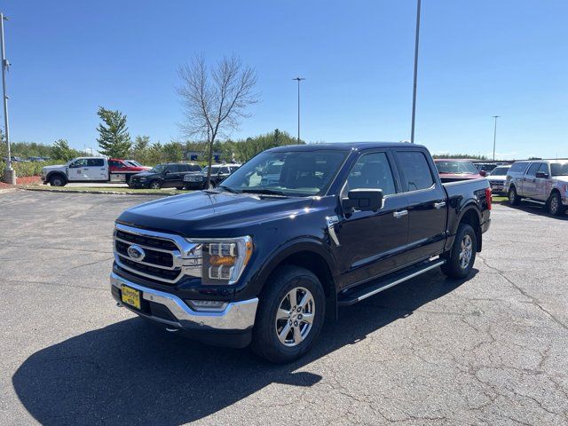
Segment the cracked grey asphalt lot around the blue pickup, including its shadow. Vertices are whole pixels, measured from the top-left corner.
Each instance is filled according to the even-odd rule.
[[[272,366],[114,306],[114,218],[150,199],[0,193],[0,425],[568,424],[568,217],[493,205],[469,280],[390,288]]]

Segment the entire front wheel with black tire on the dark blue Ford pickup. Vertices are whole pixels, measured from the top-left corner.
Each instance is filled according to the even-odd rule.
[[[278,364],[299,359],[310,351],[323,326],[326,296],[321,283],[307,269],[283,266],[274,272],[266,286],[259,297],[252,350]],[[292,299],[293,295],[296,295],[296,301]],[[305,311],[301,307],[293,310],[298,302],[306,299]],[[305,320],[308,318],[306,312],[312,312],[309,317],[312,324]]]

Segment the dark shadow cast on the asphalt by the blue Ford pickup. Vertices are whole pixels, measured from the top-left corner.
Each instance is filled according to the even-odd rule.
[[[194,343],[134,318],[37,351],[12,383],[23,406],[46,425],[193,422],[271,383],[318,383],[322,377],[309,371],[313,360],[357,344],[463,282],[432,271],[344,308],[308,356],[285,366],[273,366],[248,350]]]

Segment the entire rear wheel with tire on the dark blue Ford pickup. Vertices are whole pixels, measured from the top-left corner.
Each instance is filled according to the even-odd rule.
[[[452,251],[446,256],[446,264],[442,265],[442,272],[450,278],[465,278],[471,272],[476,261],[477,237],[468,224],[460,224],[455,234]]]

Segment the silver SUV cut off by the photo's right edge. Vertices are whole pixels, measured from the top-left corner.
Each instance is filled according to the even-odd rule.
[[[568,206],[568,160],[515,162],[507,172],[505,189],[511,204],[538,201],[550,214],[563,215]]]

